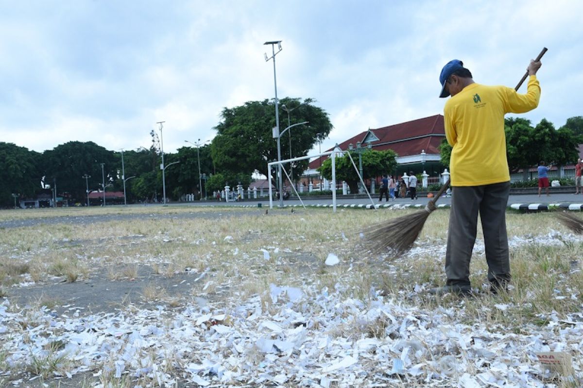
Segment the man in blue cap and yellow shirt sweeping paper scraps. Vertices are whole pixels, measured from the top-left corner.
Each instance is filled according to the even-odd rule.
[[[482,220],[490,291],[505,290],[510,260],[505,212],[510,193],[506,159],[505,113],[524,113],[539,104],[536,72],[540,61],[528,65],[528,91],[518,94],[504,86],[477,84],[460,60],[448,62],[440,74],[440,97],[445,103],[445,136],[451,145],[451,215],[445,253],[444,287],[431,293],[469,294],[470,258],[476,240],[477,216]]]

